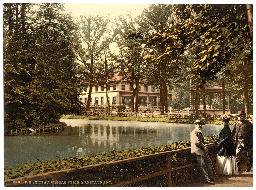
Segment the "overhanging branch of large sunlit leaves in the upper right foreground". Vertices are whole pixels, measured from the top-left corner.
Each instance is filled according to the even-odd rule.
[[[161,46],[163,53],[157,59],[166,61],[183,55],[189,44],[199,45],[193,87],[202,88],[206,81],[216,79],[232,52],[251,45],[245,5],[178,5],[176,12],[184,22],[160,30],[148,43]]]

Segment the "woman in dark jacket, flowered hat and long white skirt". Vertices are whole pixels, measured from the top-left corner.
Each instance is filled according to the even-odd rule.
[[[215,163],[215,172],[223,175],[238,175],[236,150],[231,139],[231,130],[229,128],[230,117],[226,114],[221,115],[223,128],[220,131],[217,145],[217,157]]]

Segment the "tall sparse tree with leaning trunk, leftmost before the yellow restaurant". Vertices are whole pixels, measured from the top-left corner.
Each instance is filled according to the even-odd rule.
[[[87,109],[90,110],[92,88],[100,84],[103,70],[97,58],[104,49],[103,35],[108,30],[109,18],[103,16],[81,15],[77,21],[77,60],[83,65],[83,83],[89,86]]]

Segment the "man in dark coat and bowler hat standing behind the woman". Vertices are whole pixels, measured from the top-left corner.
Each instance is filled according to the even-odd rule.
[[[245,120],[246,113],[244,111],[238,111],[238,122],[234,125],[231,131],[231,138],[236,135],[236,160],[238,171],[241,171],[241,155],[243,149],[247,152],[247,169],[249,172],[252,168],[252,147],[253,147],[253,125],[251,122]]]

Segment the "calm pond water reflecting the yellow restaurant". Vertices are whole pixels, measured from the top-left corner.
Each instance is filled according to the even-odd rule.
[[[83,156],[88,153],[127,150],[190,140],[193,124],[61,119],[60,132],[4,137],[4,165]],[[230,126],[231,127],[231,126]],[[204,125],[204,137],[219,135],[221,125]]]

